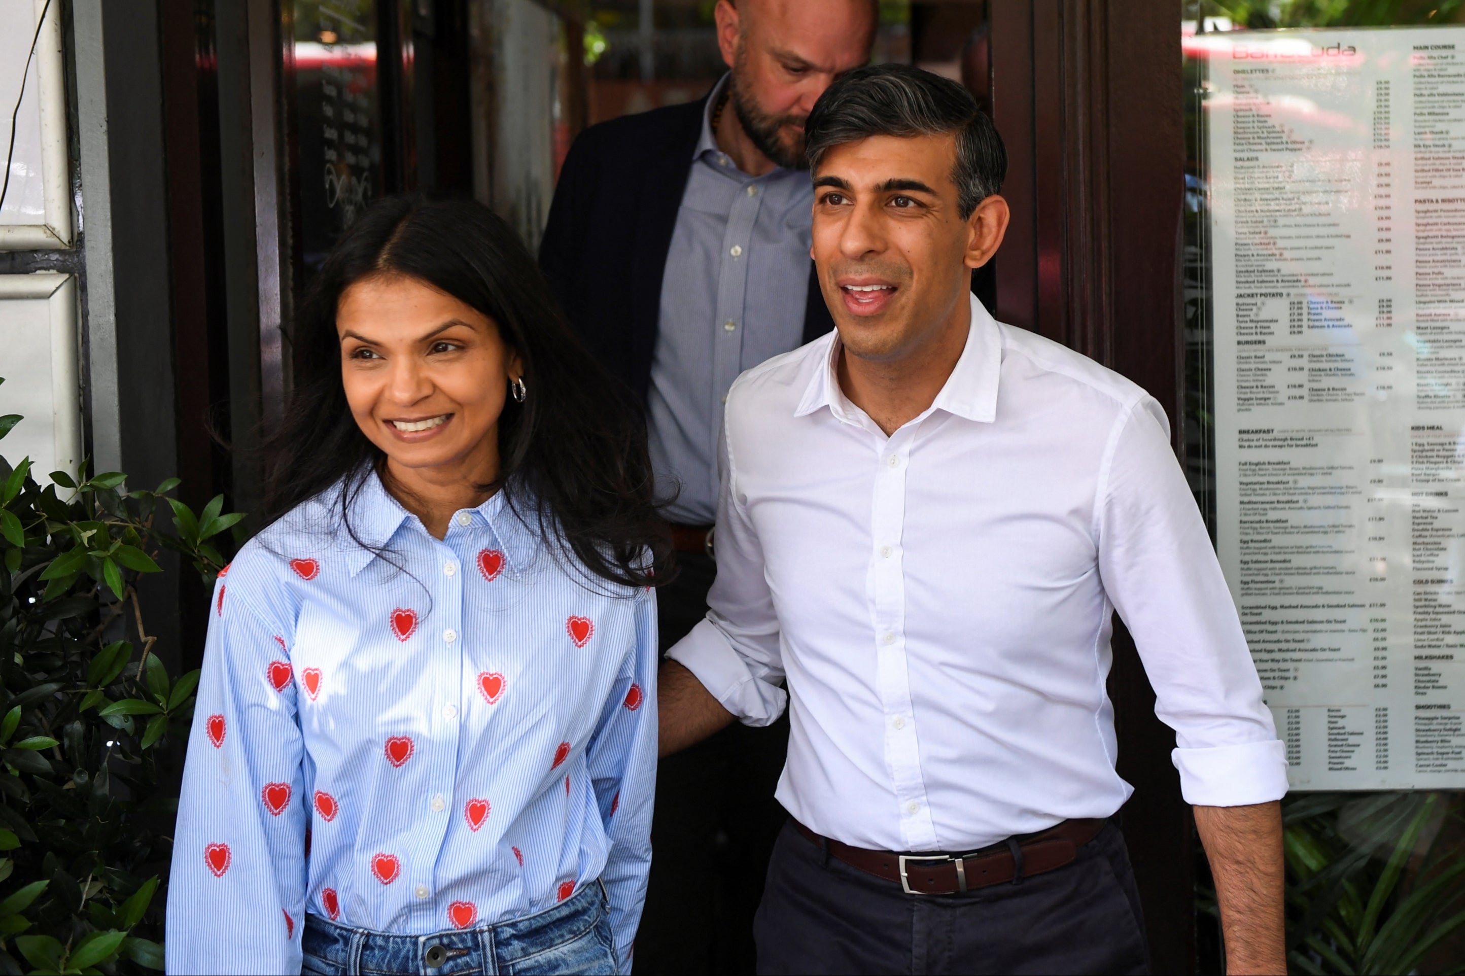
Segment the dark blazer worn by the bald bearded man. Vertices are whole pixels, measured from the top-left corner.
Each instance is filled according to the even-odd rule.
[[[570,324],[642,400],[650,385],[667,252],[706,106],[700,98],[582,132],[560,170],[539,245],[539,267]],[[804,302],[807,343],[834,328],[813,261]]]

